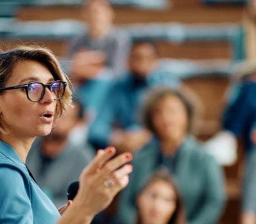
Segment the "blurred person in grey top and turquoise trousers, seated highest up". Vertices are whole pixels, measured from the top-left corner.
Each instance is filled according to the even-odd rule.
[[[114,11],[108,1],[84,1],[81,13],[87,29],[72,44],[69,76],[93,120],[112,78],[126,71],[130,40],[113,27]]]

